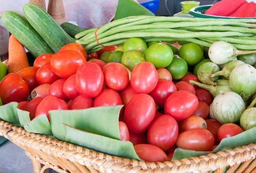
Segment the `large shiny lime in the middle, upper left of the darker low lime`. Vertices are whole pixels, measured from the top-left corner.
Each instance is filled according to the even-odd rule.
[[[154,43],[147,48],[145,59],[155,68],[167,67],[173,60],[173,50],[165,43]]]

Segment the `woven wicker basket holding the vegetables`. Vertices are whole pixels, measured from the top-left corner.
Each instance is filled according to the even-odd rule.
[[[26,151],[35,173],[256,173],[256,144],[189,159],[148,163],[100,153],[0,120],[0,135]]]

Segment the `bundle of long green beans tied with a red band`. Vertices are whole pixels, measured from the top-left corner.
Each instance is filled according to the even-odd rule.
[[[212,19],[173,16],[131,16],[75,35],[87,52],[124,43],[139,37],[146,42],[193,42],[209,47],[216,41],[232,43],[237,49],[256,49],[256,19]]]

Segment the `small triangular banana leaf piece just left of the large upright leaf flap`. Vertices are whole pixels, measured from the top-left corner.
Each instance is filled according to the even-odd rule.
[[[39,134],[45,134],[53,137],[51,125],[45,114],[38,115],[32,121],[24,125],[24,129]]]

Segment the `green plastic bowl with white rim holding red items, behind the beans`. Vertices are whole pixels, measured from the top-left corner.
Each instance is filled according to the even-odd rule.
[[[204,14],[207,9],[209,9],[212,5],[201,5],[191,8],[189,10],[189,14],[194,17],[200,18],[215,18],[215,19],[256,19],[256,17],[225,17],[225,16],[214,16]]]

